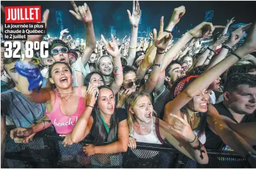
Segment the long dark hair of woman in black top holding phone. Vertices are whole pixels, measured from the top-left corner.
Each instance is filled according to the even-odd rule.
[[[107,88],[112,91],[111,88],[108,86],[100,86],[98,87],[98,90]],[[112,91],[113,93],[113,91]],[[114,95],[114,93],[113,93]],[[93,108],[93,114],[95,114],[96,117],[96,125],[95,125],[95,134],[97,136],[95,137],[94,143],[95,145],[104,145],[105,140],[107,139],[107,143],[112,143],[114,141],[118,140],[118,119],[116,117],[116,109],[114,111],[114,114],[111,115],[111,127],[109,128],[109,134],[105,131],[104,122],[102,121],[102,118],[100,116],[100,109],[98,108],[98,100],[95,103],[95,107]]]

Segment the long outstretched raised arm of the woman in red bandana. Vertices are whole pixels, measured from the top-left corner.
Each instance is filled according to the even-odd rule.
[[[210,30],[214,30],[212,23],[210,23]],[[193,33],[192,33],[193,34]],[[253,24],[253,27],[248,34],[247,41],[240,46],[234,53],[239,57],[243,58],[244,56],[252,53],[256,49],[256,22]],[[169,101],[165,106],[165,115],[174,114],[179,112],[180,108],[184,107],[187,102],[189,102],[194,96],[198,95],[203,89],[207,89],[208,86],[217,78],[219,75],[223,74],[229,67],[238,62],[239,58],[236,55],[229,55],[220,63],[212,67],[210,70],[207,70],[201,76],[199,76],[195,81],[193,81],[179,96],[174,100]]]

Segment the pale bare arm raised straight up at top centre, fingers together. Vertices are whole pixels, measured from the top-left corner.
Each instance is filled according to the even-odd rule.
[[[136,55],[136,49],[137,49],[137,37],[138,37],[138,22],[140,22],[140,4],[138,1],[133,1],[133,11],[132,14],[129,10],[127,10],[129,21],[131,24],[131,41],[130,41],[130,47],[129,47],[129,55],[126,58],[127,65],[132,65],[133,60]]]

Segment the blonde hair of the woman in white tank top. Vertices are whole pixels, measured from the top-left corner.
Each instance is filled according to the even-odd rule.
[[[142,97],[142,96],[148,96],[149,100],[152,102],[151,100],[151,96],[149,95],[149,93],[145,92],[145,91],[136,91],[135,93],[131,93],[131,95],[128,96],[128,98],[126,98],[126,108],[127,108],[127,114],[128,114],[128,126],[129,126],[129,131],[130,133],[134,133],[134,125],[133,122],[135,121],[135,114],[131,114],[130,112],[130,108],[133,108],[135,106],[135,104],[137,103],[137,101]],[[156,111],[153,110],[153,115],[156,116],[158,115],[156,113]]]

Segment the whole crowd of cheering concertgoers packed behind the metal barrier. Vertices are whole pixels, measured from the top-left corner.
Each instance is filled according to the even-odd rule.
[[[199,164],[208,164],[210,148],[232,150],[255,166],[256,22],[230,33],[234,18],[225,27],[202,22],[174,42],[172,29],[185,15],[180,6],[167,26],[159,18],[149,42],[138,42],[141,11],[133,1],[131,36],[97,41],[88,5],[71,4],[71,15],[85,25],[84,41],[67,29],[55,38],[30,35],[27,41],[49,42],[49,56],[34,51],[24,60],[4,58],[1,43],[1,147],[5,126],[17,127],[10,132],[17,143],[54,126],[64,146],[93,136],[93,145],[81,148],[87,155],[169,143]]]

